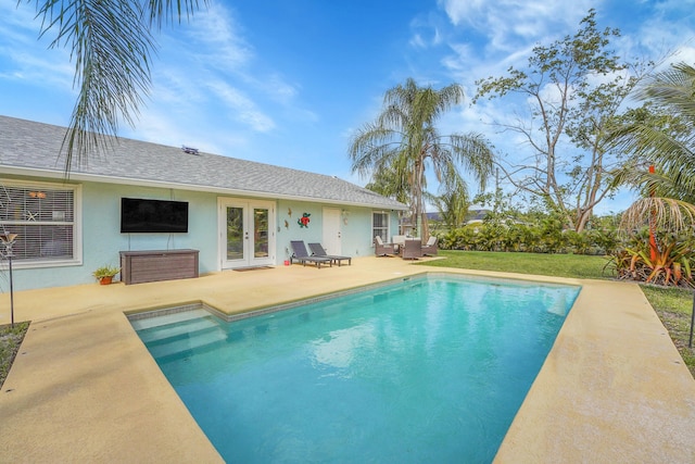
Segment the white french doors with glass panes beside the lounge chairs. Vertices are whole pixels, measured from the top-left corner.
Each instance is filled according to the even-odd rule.
[[[275,264],[275,203],[220,198],[220,268]]]

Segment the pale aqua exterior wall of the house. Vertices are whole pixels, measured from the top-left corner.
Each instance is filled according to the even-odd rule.
[[[5,177],[7,178],[7,177]],[[61,180],[18,178],[20,181],[50,181],[56,187]],[[70,181],[67,181],[70,184]],[[13,262],[13,285],[16,291],[63,287],[94,283],[92,272],[102,265],[119,266],[119,251],[195,249],[199,254],[200,274],[220,271],[218,252],[217,200],[227,197],[215,192],[166,189],[142,186],[126,186],[106,183],[74,183],[81,187],[81,214],[78,228],[81,231],[81,260],[67,265],[41,264],[27,266]],[[121,198],[148,198],[177,200],[189,203],[187,234],[121,234]],[[271,199],[263,199],[271,200]],[[341,210],[342,254],[352,256],[374,253],[371,243],[371,208],[341,206],[324,202],[275,200],[276,255],[275,264],[281,265],[291,254],[291,240],[320,242],[323,239],[324,206]],[[290,215],[291,210],[291,215]],[[298,220],[303,213],[311,214],[307,227]],[[397,212],[392,212],[392,230],[397,230]],[[287,221],[287,226],[286,226]],[[0,263],[0,291],[9,291],[7,260]]]

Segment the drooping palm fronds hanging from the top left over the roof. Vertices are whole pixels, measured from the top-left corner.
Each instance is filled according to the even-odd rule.
[[[73,156],[86,160],[106,148],[103,135],[116,135],[119,121],[134,125],[142,96],[150,88],[150,64],[156,51],[152,29],[163,22],[190,17],[207,0],[21,0],[36,3],[39,37],[54,33],[51,48],[71,49],[74,85],[79,88],[68,130],[65,172]]]

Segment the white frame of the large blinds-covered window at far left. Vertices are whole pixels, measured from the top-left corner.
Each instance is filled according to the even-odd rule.
[[[8,193],[4,190],[5,187],[26,189],[27,191],[41,191],[41,190],[70,190],[73,192],[73,221],[51,221],[51,222],[34,222],[31,220],[4,220],[0,217],[0,233],[4,230],[5,225],[21,225],[30,226],[36,225],[64,225],[73,227],[73,255],[72,258],[64,259],[46,259],[40,258],[22,259],[17,255],[16,251],[13,253],[12,266],[15,268],[39,268],[39,267],[61,267],[61,266],[74,266],[83,264],[83,195],[81,186],[77,184],[52,184],[41,181],[29,180],[16,180],[16,179],[0,179],[0,203],[4,206],[4,202],[8,201]],[[21,241],[22,237],[17,238]],[[2,248],[2,247],[0,247]],[[0,250],[4,258],[4,249]],[[4,261],[4,260],[3,260]],[[4,264],[4,263],[3,263]]]

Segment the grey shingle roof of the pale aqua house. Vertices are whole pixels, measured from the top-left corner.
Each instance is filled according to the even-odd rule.
[[[60,153],[65,131],[65,127],[0,115],[0,173],[64,177],[65,155]],[[70,178],[406,209],[337,177],[126,138],[110,137],[110,153],[92,155],[83,165],[75,160]]]

